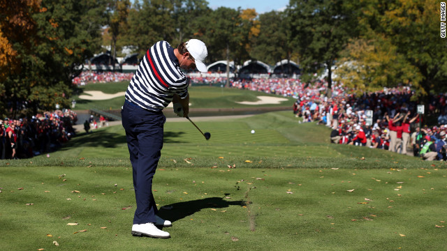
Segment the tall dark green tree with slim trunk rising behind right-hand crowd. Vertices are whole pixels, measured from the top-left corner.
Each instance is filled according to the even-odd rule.
[[[356,11],[351,0],[291,0],[288,15],[294,45],[307,74],[328,69],[332,96],[332,66],[349,38],[356,36]]]

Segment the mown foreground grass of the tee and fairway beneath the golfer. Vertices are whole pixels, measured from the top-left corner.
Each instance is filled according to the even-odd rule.
[[[445,249],[444,162],[330,144],[329,128],[291,112],[196,123],[209,141],[188,121],[165,125],[153,189],[174,206],[161,210],[172,238],[131,236],[132,170],[113,126],[50,158],[0,161],[2,249]]]

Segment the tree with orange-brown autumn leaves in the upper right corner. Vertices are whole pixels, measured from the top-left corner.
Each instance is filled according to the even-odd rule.
[[[373,0],[360,6],[365,33],[384,36],[417,69],[417,96],[447,91],[447,40],[440,36],[440,4],[429,0]]]

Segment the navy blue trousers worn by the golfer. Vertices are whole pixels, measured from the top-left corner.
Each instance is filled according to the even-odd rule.
[[[156,222],[158,212],[152,195],[152,178],[163,148],[163,112],[142,109],[126,100],[121,111],[133,169],[137,208],[133,224]]]

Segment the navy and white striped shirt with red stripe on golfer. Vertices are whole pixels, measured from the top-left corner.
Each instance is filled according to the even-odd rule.
[[[147,50],[126,91],[126,100],[144,109],[159,112],[173,100],[188,95],[189,79],[179,67],[174,49],[159,41]]]

